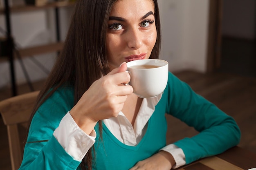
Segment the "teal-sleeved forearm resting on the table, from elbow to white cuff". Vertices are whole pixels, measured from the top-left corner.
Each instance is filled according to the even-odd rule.
[[[236,146],[240,141],[240,130],[235,122],[224,123],[200,132],[191,138],[184,138],[174,144],[182,148],[186,164],[202,157],[217,155]]]

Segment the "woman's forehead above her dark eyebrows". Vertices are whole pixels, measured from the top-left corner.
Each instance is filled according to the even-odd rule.
[[[118,16],[123,18],[141,17],[152,11],[154,13],[155,5],[153,0],[117,0],[110,16]]]

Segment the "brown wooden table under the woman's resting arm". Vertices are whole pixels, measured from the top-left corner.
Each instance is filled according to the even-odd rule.
[[[195,161],[177,170],[248,170],[256,168],[256,154],[235,146],[226,152]]]

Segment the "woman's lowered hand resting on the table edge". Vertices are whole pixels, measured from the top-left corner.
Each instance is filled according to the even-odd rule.
[[[161,150],[152,157],[139,161],[130,170],[171,170],[173,165],[175,165],[173,156]]]

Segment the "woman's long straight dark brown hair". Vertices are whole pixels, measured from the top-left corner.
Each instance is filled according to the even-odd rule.
[[[116,1],[77,0],[63,50],[40,90],[32,117],[40,105],[61,85],[74,86],[75,105],[95,80],[110,71],[106,57],[106,34],[110,11]],[[157,41],[150,58],[156,59],[159,56],[161,34],[157,0],[153,2]],[[53,89],[49,92],[50,88]],[[99,121],[99,128],[101,131],[101,121]],[[83,158],[81,169],[91,170],[92,160],[91,148]]]

